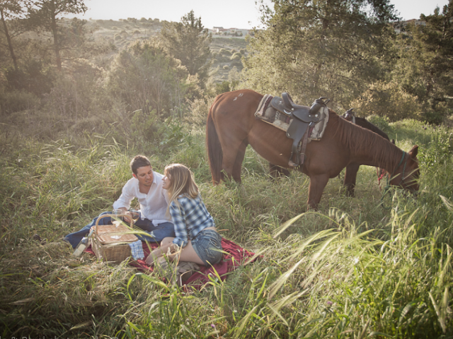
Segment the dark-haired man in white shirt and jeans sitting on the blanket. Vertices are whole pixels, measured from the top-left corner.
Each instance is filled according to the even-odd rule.
[[[140,203],[140,217],[134,225],[149,233],[149,237],[142,235],[137,235],[137,237],[149,242],[161,242],[165,237],[176,237],[173,223],[169,222],[169,218],[166,217],[168,196],[162,189],[164,176],[153,171],[151,162],[144,155],[135,156],[130,162],[130,169],[132,178],[122,188],[122,194],[113,203],[113,209],[120,209],[128,214],[127,210],[130,208],[131,201],[137,198]],[[104,212],[101,215],[104,214],[110,214],[110,212]],[[96,225],[98,218],[94,218],[78,232],[68,234],[64,239],[75,249],[81,239],[90,232],[91,227]],[[111,223],[110,218],[106,217],[99,220],[98,225],[110,225]]]

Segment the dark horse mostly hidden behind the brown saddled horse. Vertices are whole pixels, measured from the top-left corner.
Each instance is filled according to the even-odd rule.
[[[345,114],[343,114],[341,117],[347,121],[352,122],[352,124],[356,124],[360,127],[363,127],[364,129],[369,129],[370,131],[379,134],[379,136],[382,136],[382,138],[390,141],[389,136],[384,131],[379,129],[379,127],[375,126],[365,118],[355,117],[355,113],[352,112],[352,109],[348,109],[348,111],[346,111]],[[392,139],[390,142],[395,143],[394,139]],[[354,196],[355,182],[357,179],[357,172],[359,172],[359,167],[360,165],[358,164],[350,164],[346,166],[343,186],[345,186],[345,193],[347,196]],[[277,166],[271,162],[269,162],[269,173],[273,178],[289,177],[288,169]],[[377,178],[379,183],[385,176],[385,174],[386,171],[384,169],[377,168]]]

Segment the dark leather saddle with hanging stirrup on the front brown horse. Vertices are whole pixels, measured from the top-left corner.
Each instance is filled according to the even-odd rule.
[[[311,128],[320,121],[321,114],[319,114],[319,109],[321,109],[321,107],[326,107],[326,104],[329,101],[326,100],[326,102],[324,102],[324,99],[326,99],[326,97],[316,99],[311,107],[302,106],[294,104],[289,94],[285,92],[282,93],[282,98],[273,97],[273,100],[270,101],[270,105],[277,109],[278,112],[292,118],[292,122],[289,124],[286,132],[286,136],[293,139],[291,155],[289,156],[288,162],[289,166],[297,167],[304,164],[304,158],[302,159],[302,164],[300,162],[298,150],[299,143],[301,143],[302,138],[305,135],[306,138],[304,138],[304,145],[302,146],[302,154],[304,154],[304,146],[306,145],[306,139],[308,138],[307,131],[311,130]],[[294,162],[292,161],[293,156]]]

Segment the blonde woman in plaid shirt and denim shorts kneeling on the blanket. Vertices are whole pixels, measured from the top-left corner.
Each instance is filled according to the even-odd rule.
[[[219,263],[222,260],[222,237],[217,233],[214,219],[201,199],[190,169],[180,164],[168,165],[162,181],[169,199],[166,213],[171,215],[176,238],[164,238],[161,246],[149,254],[147,264],[155,263],[168,249],[172,254],[181,249],[179,261],[192,261],[204,266]]]

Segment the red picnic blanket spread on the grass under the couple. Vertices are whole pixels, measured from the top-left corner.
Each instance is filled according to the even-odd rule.
[[[151,249],[155,249],[157,247],[156,243],[148,244],[149,246],[151,246]],[[147,256],[149,256],[150,251],[148,245],[145,242],[142,242],[142,246],[144,258],[146,259]],[[200,289],[203,285],[205,285],[205,283],[210,281],[210,278],[208,278],[210,274],[213,274],[215,276],[214,270],[217,271],[222,280],[225,280],[228,276],[228,273],[232,270],[235,270],[244,263],[253,262],[256,260],[254,253],[249,252],[238,244],[235,244],[234,242],[231,242],[224,238],[222,238],[222,249],[227,253],[224,254],[222,261],[214,266],[209,267],[200,265],[200,270],[197,273],[193,273],[193,275],[191,275],[190,278],[188,278],[188,280],[185,282],[185,285],[190,285],[197,289]],[[86,252],[94,254],[91,247],[88,247],[88,249],[86,249]],[[148,266],[147,263],[144,262],[144,260],[131,260],[129,264],[138,268],[139,270],[142,270],[142,272],[144,273],[151,273],[153,271],[153,268],[151,266]]]

